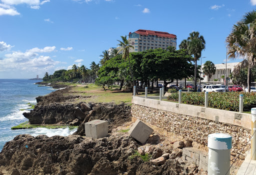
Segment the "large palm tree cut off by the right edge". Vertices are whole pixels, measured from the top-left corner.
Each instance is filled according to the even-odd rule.
[[[238,74],[242,68],[248,68],[247,86],[250,91],[251,67],[256,64],[256,10],[245,13],[241,20],[233,25],[226,37],[228,58],[242,57],[243,60],[233,70]]]

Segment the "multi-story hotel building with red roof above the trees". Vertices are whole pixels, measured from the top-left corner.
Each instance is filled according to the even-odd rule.
[[[130,52],[138,52],[155,48],[166,49],[168,46],[176,48],[176,35],[164,31],[139,29],[129,32],[129,43],[134,48]]]

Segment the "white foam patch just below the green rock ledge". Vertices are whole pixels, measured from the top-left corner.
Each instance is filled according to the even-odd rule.
[[[61,136],[67,136],[72,133],[74,133],[77,129],[69,130],[68,127],[66,128],[57,128],[57,129],[47,129],[43,127],[37,127],[33,129],[33,133],[31,133],[32,136],[44,134],[47,136],[54,136],[54,135],[61,135]]]

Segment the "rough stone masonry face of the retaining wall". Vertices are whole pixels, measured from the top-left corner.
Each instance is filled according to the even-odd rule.
[[[227,133],[232,136],[231,155],[236,156],[241,152],[250,138],[250,131],[235,125],[227,125],[195,116],[182,115],[179,113],[145,107],[137,104],[131,105],[133,117],[148,122],[168,132],[174,132],[183,137],[189,136],[197,143],[207,145],[208,134]],[[241,152],[240,158],[244,158],[245,151],[249,150],[250,141]]]

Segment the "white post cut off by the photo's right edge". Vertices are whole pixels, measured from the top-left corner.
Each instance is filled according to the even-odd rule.
[[[256,153],[254,153],[256,149],[256,133],[254,133],[256,132],[256,107],[251,108],[250,113],[251,113],[251,136],[253,135],[250,140],[250,158],[252,160],[256,160]]]

